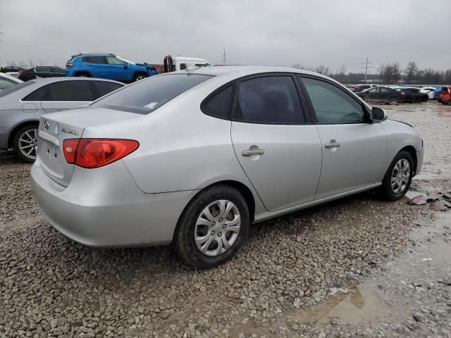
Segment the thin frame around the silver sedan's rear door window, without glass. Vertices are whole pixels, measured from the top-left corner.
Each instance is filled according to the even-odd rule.
[[[302,111],[299,111],[299,114],[302,114],[304,116],[304,121],[303,123],[295,123],[292,125],[307,125],[309,123],[311,123],[311,118],[309,115],[306,115],[306,112],[304,111],[304,101],[303,101],[303,97],[304,96],[302,93],[299,92],[299,87],[297,87],[297,79],[296,77],[292,74],[292,73],[285,73],[285,72],[271,72],[271,73],[259,73],[259,74],[252,74],[252,75],[247,75],[244,77],[240,77],[238,79],[236,79],[236,84],[235,84],[235,88],[233,89],[233,104],[232,104],[232,109],[231,109],[231,115],[230,115],[230,119],[232,121],[235,122],[242,122],[242,123],[249,123],[249,122],[243,122],[241,120],[236,120],[234,115],[236,114],[237,111],[237,106],[238,106],[238,92],[240,91],[240,83],[246,80],[251,80],[251,79],[256,79],[259,77],[271,77],[271,76],[287,76],[287,77],[291,77],[291,80],[293,82],[293,84],[295,85],[295,89],[297,92],[297,96],[299,98],[299,101],[301,103],[301,108]],[[251,124],[254,125],[261,125],[261,124],[267,124],[267,123],[256,123],[256,122],[252,122]],[[271,123],[268,125],[284,125],[283,123]]]

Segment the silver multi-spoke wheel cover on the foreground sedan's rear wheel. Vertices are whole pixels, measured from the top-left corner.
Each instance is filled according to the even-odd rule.
[[[214,201],[202,210],[194,227],[194,242],[206,256],[219,256],[235,244],[240,233],[241,217],[231,201]]]

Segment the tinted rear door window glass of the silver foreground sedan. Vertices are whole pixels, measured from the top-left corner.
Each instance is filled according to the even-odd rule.
[[[299,94],[291,75],[241,81],[233,120],[270,125],[304,123]]]

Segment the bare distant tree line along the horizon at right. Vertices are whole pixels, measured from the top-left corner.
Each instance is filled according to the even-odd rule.
[[[360,83],[364,82],[364,73],[347,73],[345,66],[332,73],[325,65],[318,67],[304,67],[300,63],[292,65],[293,68],[311,70],[316,73],[328,75],[342,83]],[[402,69],[397,62],[381,63],[377,68],[376,74],[367,74],[367,80],[381,84],[451,84],[451,68],[448,70],[435,70],[433,68],[419,69],[414,61],[407,63],[405,69]]]

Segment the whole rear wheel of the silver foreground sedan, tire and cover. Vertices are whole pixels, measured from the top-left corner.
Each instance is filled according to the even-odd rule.
[[[190,201],[178,220],[174,245],[197,268],[214,268],[235,256],[247,237],[249,208],[233,187],[216,185]]]

